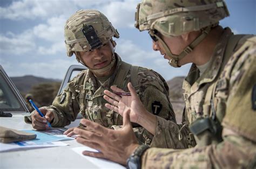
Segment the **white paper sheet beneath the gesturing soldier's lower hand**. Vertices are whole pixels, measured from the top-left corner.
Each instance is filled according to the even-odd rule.
[[[99,168],[126,168],[118,163],[114,163],[113,161],[110,160],[105,160],[105,159],[100,159],[100,158],[95,158],[95,157],[90,157],[90,156],[84,156],[82,154],[83,151],[93,151],[93,152],[98,152],[95,149],[92,149],[87,146],[82,146],[82,147],[75,147],[72,149],[76,153],[78,153],[80,156],[84,157],[85,159],[89,160],[91,163],[94,165],[98,166]]]

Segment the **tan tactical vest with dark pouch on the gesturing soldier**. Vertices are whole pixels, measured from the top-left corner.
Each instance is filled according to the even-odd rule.
[[[226,102],[228,97],[229,77],[231,74],[232,66],[226,69],[226,64],[235,64],[235,60],[230,63],[230,58],[234,48],[237,46],[239,40],[244,35],[233,35],[228,41],[224,52],[224,57],[221,63],[220,70],[216,78],[206,83],[208,86],[205,99],[203,103],[203,112],[200,117],[197,117],[191,124],[190,130],[196,135],[198,146],[206,146],[210,144],[217,144],[221,142],[222,129],[221,121],[224,118],[226,111]],[[225,72],[223,72],[225,68]],[[189,102],[186,103],[190,104]]]

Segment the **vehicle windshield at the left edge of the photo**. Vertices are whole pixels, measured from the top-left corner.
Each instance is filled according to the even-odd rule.
[[[0,111],[26,111],[2,71],[0,71]]]

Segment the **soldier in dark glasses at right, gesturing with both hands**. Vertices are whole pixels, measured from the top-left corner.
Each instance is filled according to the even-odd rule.
[[[93,133],[74,130],[80,135],[79,143],[100,151],[83,154],[129,168],[255,168],[256,37],[234,35],[230,28],[221,27],[219,20],[228,15],[222,0],[144,0],[137,6],[136,27],[149,31],[153,50],[171,66],[192,63],[183,83],[188,122],[184,128],[189,125],[191,133],[185,137],[193,135],[196,147],[174,150],[138,145],[130,121],[154,133],[154,138],[164,138],[167,145],[174,144],[173,138],[182,140],[184,128],[177,131],[176,124],[152,116],[129,83],[131,96],[104,91],[111,103],[106,107],[124,116],[121,130],[111,131],[86,119],[81,123]],[[149,120],[151,125],[144,123]]]

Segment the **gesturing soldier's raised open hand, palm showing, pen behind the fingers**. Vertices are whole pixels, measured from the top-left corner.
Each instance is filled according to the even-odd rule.
[[[109,90],[104,90],[104,99],[109,103],[106,103],[105,106],[113,111],[118,112],[121,116],[123,116],[124,111],[130,109],[130,119],[131,122],[139,123],[139,118],[142,117],[143,114],[147,113],[143,103],[140,101],[136,90],[132,87],[131,83],[128,83],[128,89],[130,90],[131,96],[119,96],[112,93]],[[122,89],[119,89],[115,86],[111,86],[111,89],[116,92],[124,92]]]

